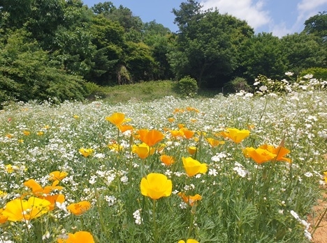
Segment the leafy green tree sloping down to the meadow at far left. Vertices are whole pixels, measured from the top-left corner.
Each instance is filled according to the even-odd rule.
[[[36,41],[30,42],[29,33],[13,32],[0,50],[1,102],[82,100],[86,95],[82,78],[68,75],[50,63],[47,52]]]

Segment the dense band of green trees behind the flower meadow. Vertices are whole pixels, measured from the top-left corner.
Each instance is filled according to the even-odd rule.
[[[327,14],[303,31],[278,38],[254,33],[247,22],[203,10],[187,0],[173,9],[178,31],[143,22],[110,1],[92,8],[81,0],[0,1],[0,103],[8,100],[80,100],[86,85],[196,79],[217,88],[258,75],[327,66]]]

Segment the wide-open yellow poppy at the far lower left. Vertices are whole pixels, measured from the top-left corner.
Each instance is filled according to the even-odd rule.
[[[6,204],[2,214],[9,221],[30,221],[49,212],[50,202],[31,196],[28,201],[16,198]]]

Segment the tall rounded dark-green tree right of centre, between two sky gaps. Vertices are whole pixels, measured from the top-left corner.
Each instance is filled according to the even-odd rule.
[[[168,54],[173,72],[177,78],[195,78],[199,87],[222,86],[240,65],[238,49],[252,37],[253,29],[217,10],[201,12],[196,1],[182,3],[180,8],[173,10],[180,31],[175,48]]]

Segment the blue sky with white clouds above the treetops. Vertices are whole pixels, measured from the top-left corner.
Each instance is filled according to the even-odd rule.
[[[87,6],[103,0],[84,0]],[[170,31],[177,31],[173,24],[173,8],[180,8],[177,0],[112,0],[116,7],[129,8],[143,22],[156,20]],[[217,7],[220,13],[229,13],[247,21],[256,33],[272,32],[275,36],[303,31],[306,19],[318,12],[327,11],[327,0],[199,0],[203,9]]]

